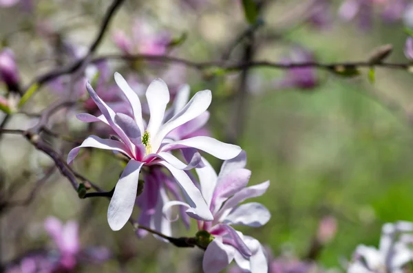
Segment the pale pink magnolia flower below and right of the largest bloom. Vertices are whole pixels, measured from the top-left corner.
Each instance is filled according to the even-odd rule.
[[[266,192],[269,182],[246,187],[251,171],[245,167],[246,153],[242,152],[222,164],[217,176],[212,166],[202,160],[203,168],[196,168],[200,179],[202,196],[213,214],[213,221],[198,221],[197,237],[207,245],[202,267],[204,272],[220,272],[233,259],[248,272],[267,272],[268,265],[259,241],[244,236],[232,226],[260,227],[271,217],[270,212],[259,203],[239,205],[242,201]],[[164,212],[174,205],[186,206],[180,201],[170,201]],[[198,217],[199,218],[199,217]]]

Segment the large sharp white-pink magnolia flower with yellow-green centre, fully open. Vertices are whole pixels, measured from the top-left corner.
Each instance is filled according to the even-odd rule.
[[[198,217],[198,219],[213,219],[200,190],[196,188],[184,171],[200,163],[200,154],[198,152],[194,153],[189,164],[185,164],[171,155],[169,151],[195,148],[222,160],[228,160],[240,153],[240,147],[205,136],[178,141],[165,139],[173,129],[197,118],[207,110],[211,104],[211,91],[199,91],[181,111],[167,122],[162,122],[169,102],[169,91],[163,80],[153,80],[146,92],[150,112],[149,123],[146,125],[142,119],[142,108],[136,93],[120,74],[115,73],[115,81],[130,103],[133,118],[123,113],[115,113],[96,94],[92,86],[87,84],[86,88],[89,95],[103,115],[96,117],[88,113],[81,113],[77,115],[77,118],[83,122],[104,122],[112,127],[118,135],[118,140],[102,139],[96,135],[91,135],[81,146],[72,149],[67,155],[67,162],[71,163],[82,147],[95,147],[120,152],[130,158],[116,184],[114,195],[109,204],[107,211],[109,226],[113,230],[120,230],[125,226],[134,208],[140,168],[153,165],[165,166],[180,184],[191,204],[191,208],[187,210],[189,215]]]

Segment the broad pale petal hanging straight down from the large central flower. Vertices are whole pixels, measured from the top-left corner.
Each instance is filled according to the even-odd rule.
[[[110,199],[107,210],[107,221],[112,230],[123,228],[132,215],[138,191],[140,168],[143,164],[136,160],[129,160],[116,183],[114,195]]]

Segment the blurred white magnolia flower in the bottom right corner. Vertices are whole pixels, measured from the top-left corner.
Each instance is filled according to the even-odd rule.
[[[348,273],[403,273],[403,266],[413,261],[413,252],[407,243],[396,240],[396,235],[412,232],[413,223],[385,223],[381,231],[379,249],[359,245],[348,267]]]

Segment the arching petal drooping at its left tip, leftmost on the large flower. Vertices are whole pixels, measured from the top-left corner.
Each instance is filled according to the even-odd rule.
[[[81,146],[77,146],[69,152],[69,154],[67,155],[67,164],[72,163],[76,155],[78,155],[80,149],[85,147],[118,151],[120,153],[125,153],[125,155],[128,155],[129,157],[132,157],[132,155],[129,153],[129,150],[127,149],[127,146],[122,142],[118,140],[106,140],[103,138],[99,138],[96,135],[89,135],[89,137],[87,137],[83,141]]]

